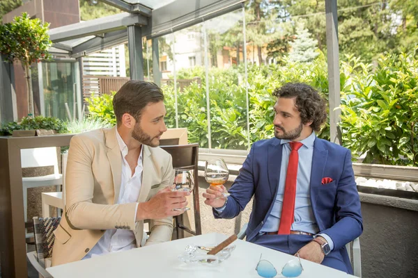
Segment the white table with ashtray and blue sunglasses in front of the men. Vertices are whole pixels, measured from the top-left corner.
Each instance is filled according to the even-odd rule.
[[[263,259],[270,261],[277,271],[294,256],[277,252],[260,245],[235,240],[236,245],[231,257],[220,265],[186,265],[178,261],[177,256],[184,252],[189,244],[213,246],[225,240],[223,234],[204,234],[173,240],[167,243],[141,247],[125,252],[95,256],[84,261],[47,268],[55,278],[81,277],[259,277],[255,268],[263,253]],[[304,272],[301,278],[348,278],[345,272],[334,270],[317,263],[302,260]],[[281,277],[281,275],[277,275]]]

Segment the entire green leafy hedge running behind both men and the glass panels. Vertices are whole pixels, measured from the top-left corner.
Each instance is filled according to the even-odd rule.
[[[408,54],[383,54],[377,65],[364,64],[353,56],[341,62],[341,131],[343,145],[353,156],[366,154],[364,162],[394,165],[418,164],[417,49]],[[304,82],[318,89],[328,101],[327,63],[322,54],[311,63],[249,65],[250,141],[272,138],[272,92],[288,82]],[[178,71],[177,79],[199,77],[178,88],[178,126],[187,127],[189,142],[208,147],[206,74],[203,67]],[[212,148],[248,149],[245,68],[209,70],[210,127]],[[176,127],[173,85],[162,86],[167,108],[166,124]],[[111,97],[91,98],[95,117],[111,122]],[[329,121],[318,133],[329,140]]]

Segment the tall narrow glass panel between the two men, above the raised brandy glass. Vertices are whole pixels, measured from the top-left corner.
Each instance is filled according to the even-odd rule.
[[[212,148],[247,149],[242,10],[205,22]]]

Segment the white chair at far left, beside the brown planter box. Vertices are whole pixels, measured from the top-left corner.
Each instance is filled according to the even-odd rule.
[[[56,186],[57,191],[61,191],[63,183],[62,174],[59,174],[58,156],[56,147],[43,147],[36,149],[22,149],[20,151],[22,168],[30,167],[54,167],[54,174],[47,174],[40,177],[24,177],[23,183],[23,206],[24,206],[24,222],[28,220],[28,188],[36,188],[41,186]],[[61,212],[58,211],[59,216]],[[32,234],[26,233],[26,238]]]

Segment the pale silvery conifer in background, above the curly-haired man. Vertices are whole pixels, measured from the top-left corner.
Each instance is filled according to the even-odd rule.
[[[291,62],[311,62],[318,56],[316,51],[318,41],[311,38],[311,34],[302,23],[297,24],[296,38],[293,42],[290,42],[290,45],[289,59]]]

